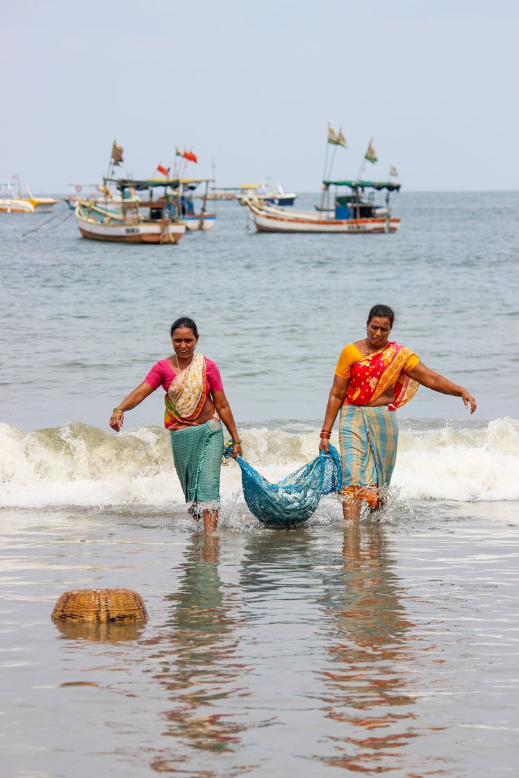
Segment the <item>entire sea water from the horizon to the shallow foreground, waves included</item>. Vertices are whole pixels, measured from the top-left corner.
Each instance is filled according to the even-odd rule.
[[[289,236],[223,202],[212,232],[145,247],[82,239],[64,204],[0,215],[5,776],[514,773],[519,192],[393,205],[395,235]],[[402,408],[380,521],[345,526],[328,497],[267,530],[230,464],[205,537],[163,393],[107,426],[188,315],[244,456],[279,480],[314,457],[338,353],[374,303],[478,401],[470,416],[421,387]],[[51,622],[63,591],[123,586],[146,626]]]

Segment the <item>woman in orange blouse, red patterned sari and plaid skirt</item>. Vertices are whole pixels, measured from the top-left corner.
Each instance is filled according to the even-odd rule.
[[[419,384],[441,394],[461,397],[470,412],[472,394],[420,362],[405,346],[389,340],[395,321],[387,305],[375,305],[366,322],[366,338],[342,349],[324,415],[319,450],[328,451],[339,408],[342,458],[342,509],[358,519],[363,501],[380,508],[391,482],[398,444],[396,409],[408,402]]]

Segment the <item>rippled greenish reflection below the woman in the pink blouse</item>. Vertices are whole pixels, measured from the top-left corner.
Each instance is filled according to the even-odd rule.
[[[167,630],[154,641],[160,650],[153,658],[162,665],[154,677],[172,703],[163,713],[167,721],[163,734],[179,738],[182,747],[221,753],[236,749],[243,727],[218,712],[219,701],[245,693],[237,686],[245,670],[235,655],[239,618],[233,594],[220,580],[218,563],[218,534],[195,535],[181,565],[184,575],[178,591],[167,596],[170,619]],[[173,760],[158,758],[151,766],[158,773],[176,772],[186,759],[185,749],[179,748]],[[188,773],[213,774],[210,769]]]

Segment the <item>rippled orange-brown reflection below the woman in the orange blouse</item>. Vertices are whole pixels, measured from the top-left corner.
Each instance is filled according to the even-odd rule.
[[[320,759],[357,773],[385,773],[398,769],[411,738],[426,734],[416,727],[407,675],[418,648],[408,639],[413,625],[400,601],[383,526],[346,524],[342,558],[324,601],[332,631],[323,700],[328,717],[345,724],[345,734],[324,738],[335,753]]]

